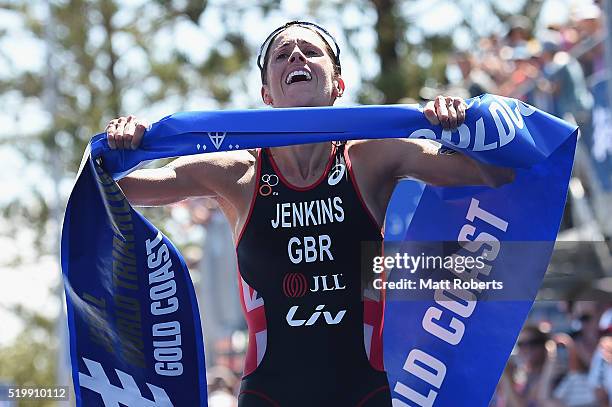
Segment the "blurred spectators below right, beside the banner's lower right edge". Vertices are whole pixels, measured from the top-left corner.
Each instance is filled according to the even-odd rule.
[[[490,407],[612,406],[612,303],[558,305],[557,326],[525,324]]]

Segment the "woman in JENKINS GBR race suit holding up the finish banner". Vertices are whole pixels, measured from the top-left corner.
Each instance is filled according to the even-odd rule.
[[[316,24],[277,28],[257,61],[262,100],[273,108],[332,106],[345,92],[340,48]],[[424,108],[449,130],[465,113],[453,97]],[[145,128],[133,116],[112,120],[108,143],[137,148]],[[362,242],[382,242],[387,204],[406,177],[498,186],[513,172],[429,141],[386,139],[182,157],[119,185],[135,205],[205,196],[227,216],[249,328],[241,406],[390,406],[384,294],[363,295],[360,252]]]

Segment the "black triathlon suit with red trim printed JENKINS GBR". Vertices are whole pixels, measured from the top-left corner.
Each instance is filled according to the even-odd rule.
[[[362,242],[382,234],[344,145],[308,187],[283,178],[268,149],[256,177],[236,247],[249,329],[239,405],[390,406],[384,294],[364,296],[361,282]]]

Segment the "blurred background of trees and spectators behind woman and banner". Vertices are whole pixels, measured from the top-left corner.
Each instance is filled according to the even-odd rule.
[[[487,92],[580,125],[553,261],[492,405],[609,407],[611,7],[606,0],[0,0],[0,388],[71,383],[58,247],[90,137],[120,115],[155,122],[181,110],[262,108],[260,43],[286,21],[308,19],[342,49],[340,105]],[[406,182],[394,202],[405,205],[419,188]],[[206,200],[142,212],[190,267],[211,405],[235,405],[247,335],[229,227]],[[390,207],[387,234],[402,235],[408,222]]]

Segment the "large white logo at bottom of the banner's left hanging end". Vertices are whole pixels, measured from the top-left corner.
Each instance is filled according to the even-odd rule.
[[[153,395],[153,400],[149,400],[140,393],[134,378],[129,374],[115,369],[123,386],[121,388],[109,382],[108,376],[106,376],[106,372],[100,363],[87,358],[83,358],[83,362],[85,362],[90,376],[79,372],[79,384],[81,387],[100,394],[105,407],[120,407],[119,403],[124,406],[173,407],[164,389],[147,383]]]

